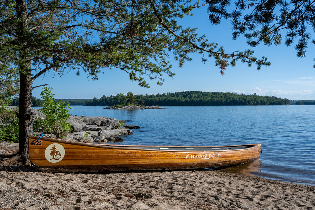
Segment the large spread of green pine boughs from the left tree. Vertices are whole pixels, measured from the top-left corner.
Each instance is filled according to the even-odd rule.
[[[192,59],[190,53],[201,54],[202,62],[212,57],[221,73],[236,60],[256,63],[259,68],[269,65],[264,58],[252,57],[251,50],[226,53],[199,36],[197,28],[179,25],[178,19],[205,5],[198,1],[34,0],[20,4],[17,10],[15,2],[4,1],[0,8],[0,62],[1,68],[16,69],[17,74],[32,71],[32,80],[48,71],[62,76],[72,69],[97,80],[100,69],[114,68],[140,86],[150,87],[146,80],[162,85],[165,75],[175,75],[169,53],[180,67]]]

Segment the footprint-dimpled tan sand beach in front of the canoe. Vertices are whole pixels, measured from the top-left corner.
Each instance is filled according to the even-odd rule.
[[[73,174],[14,165],[0,169],[4,209],[311,210],[315,186],[210,170]]]

